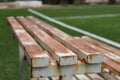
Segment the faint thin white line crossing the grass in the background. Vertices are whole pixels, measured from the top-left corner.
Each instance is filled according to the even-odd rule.
[[[116,17],[120,14],[101,14],[101,15],[86,15],[86,16],[68,16],[68,17],[53,17],[54,19],[86,19],[86,18],[104,18],[104,17]]]

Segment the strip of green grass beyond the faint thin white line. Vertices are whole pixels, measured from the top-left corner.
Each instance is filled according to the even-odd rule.
[[[66,16],[81,16],[81,15],[96,15],[96,14],[119,14],[119,5],[101,5],[101,6],[69,6],[56,8],[35,9],[50,17],[66,17]]]

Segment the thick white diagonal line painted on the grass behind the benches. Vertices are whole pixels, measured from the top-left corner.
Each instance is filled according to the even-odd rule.
[[[103,42],[105,42],[105,43],[108,43],[108,44],[110,44],[110,45],[113,45],[113,46],[115,46],[115,47],[120,48],[120,44],[117,43],[117,42],[114,42],[114,41],[109,40],[109,39],[107,39],[107,38],[104,38],[104,37],[98,36],[98,35],[96,35],[96,34],[87,32],[87,31],[82,30],[82,29],[80,29],[80,28],[76,28],[75,26],[71,26],[71,25],[65,24],[65,23],[63,23],[63,22],[61,22],[61,21],[58,21],[58,20],[53,19],[53,18],[50,18],[50,17],[48,17],[48,16],[46,16],[46,15],[40,13],[40,12],[37,12],[37,11],[33,10],[33,9],[28,9],[28,11],[31,12],[31,13],[33,13],[33,14],[35,14],[35,15],[37,15],[37,16],[40,16],[40,17],[42,17],[42,18],[44,18],[44,19],[46,19],[46,20],[48,20],[48,21],[51,21],[51,22],[56,23],[56,24],[58,24],[58,25],[61,25],[61,27],[68,28],[68,29],[70,29],[70,30],[73,30],[73,31],[82,33],[82,34],[84,34],[84,35],[93,37],[93,38],[95,38],[95,39],[101,40],[101,41],[103,41]]]

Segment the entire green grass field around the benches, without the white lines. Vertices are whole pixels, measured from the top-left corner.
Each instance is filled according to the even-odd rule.
[[[35,8],[50,17],[86,16],[98,14],[120,14],[120,6],[77,6],[77,7],[56,7],[56,8]],[[0,79],[19,80],[19,57],[17,40],[13,37],[12,30],[7,23],[8,16],[33,15],[27,9],[5,9],[0,10]],[[33,15],[35,16],[35,15]],[[37,16],[36,16],[37,17]],[[39,17],[38,17],[39,18]],[[40,18],[42,19],[42,18]],[[61,28],[59,25],[42,19],[57,28],[73,36],[82,34]],[[64,23],[76,26],[89,32],[98,34],[120,43],[120,16],[86,19],[61,19]],[[27,62],[25,62],[27,63]],[[29,64],[27,63],[26,66]],[[29,80],[29,68],[25,67],[26,77]]]

